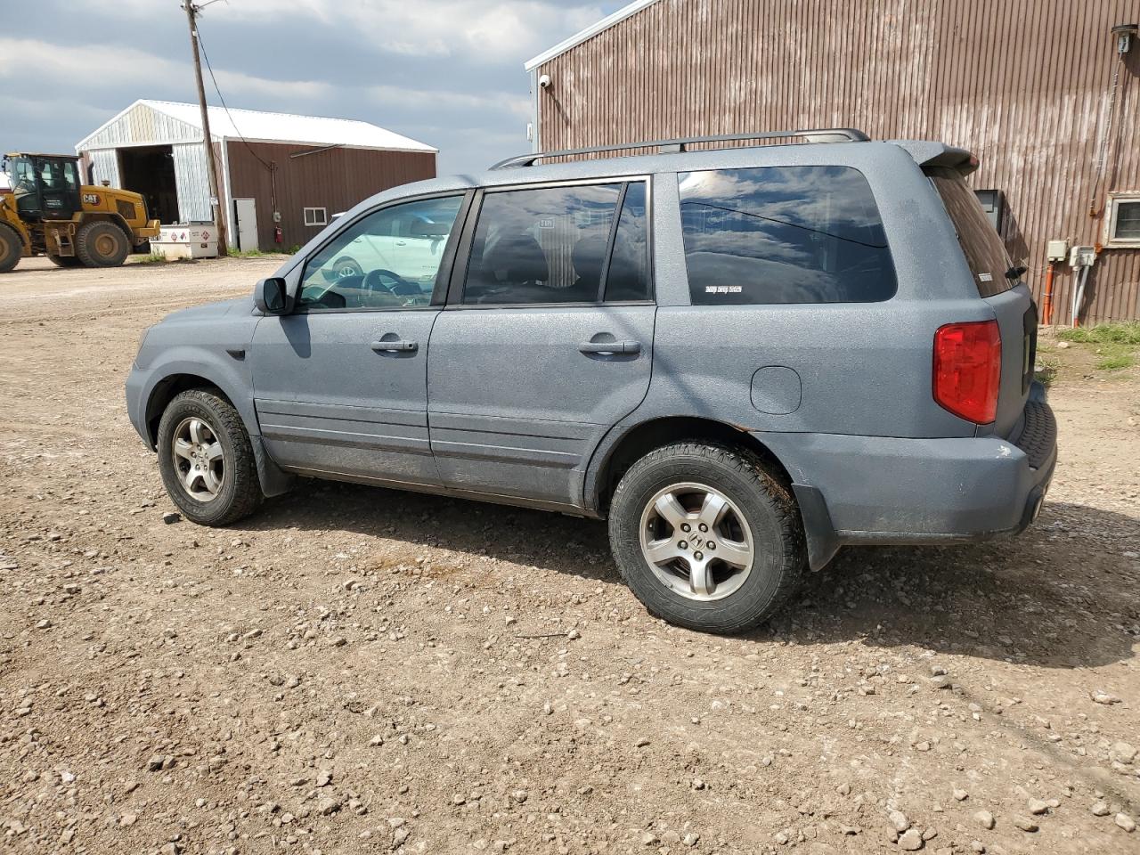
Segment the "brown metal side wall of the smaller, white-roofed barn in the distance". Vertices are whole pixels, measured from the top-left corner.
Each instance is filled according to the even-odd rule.
[[[435,155],[420,152],[377,152],[364,148],[329,148],[303,157],[316,146],[229,140],[229,187],[234,198],[255,198],[258,242],[268,250],[274,227],[282,227],[286,249],[304,244],[320,230],[304,225],[306,207],[324,207],[329,217],[347,211],[389,187],[435,177]],[[258,160],[260,158],[260,160]],[[262,163],[262,161],[264,163]],[[276,181],[270,178],[275,168]],[[274,223],[274,185],[280,223]],[[230,235],[236,242],[236,236]]]

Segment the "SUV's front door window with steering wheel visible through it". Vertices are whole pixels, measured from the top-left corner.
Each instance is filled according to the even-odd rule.
[[[462,196],[393,205],[357,220],[304,266],[299,307],[429,306]]]

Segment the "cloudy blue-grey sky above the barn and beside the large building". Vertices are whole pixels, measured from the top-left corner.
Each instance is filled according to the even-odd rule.
[[[26,26],[0,30],[0,147],[71,152],[137,98],[195,100],[180,5],[15,3]],[[624,5],[219,0],[199,30],[230,107],[373,122],[439,147],[448,173],[528,150],[523,62]]]

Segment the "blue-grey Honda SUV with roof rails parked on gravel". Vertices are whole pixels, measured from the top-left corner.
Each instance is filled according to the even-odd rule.
[[[840,546],[1039,513],[1036,311],[976,165],[829,129],[398,187],[150,327],[131,421],[197,523],[296,477],[605,518],[650,611],[740,632]]]

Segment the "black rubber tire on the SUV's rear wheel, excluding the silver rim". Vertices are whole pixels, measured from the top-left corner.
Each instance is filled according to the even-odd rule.
[[[698,600],[677,593],[659,578],[642,551],[646,507],[660,491],[685,483],[723,494],[735,505],[732,513],[739,513],[751,531],[751,564],[739,587],[722,598]],[[742,448],[692,441],[650,451],[618,484],[609,526],[613,557],[634,595],[651,614],[700,632],[741,633],[764,622],[796,591],[807,564],[804,528],[790,488]],[[731,572],[726,565],[718,567]]]

